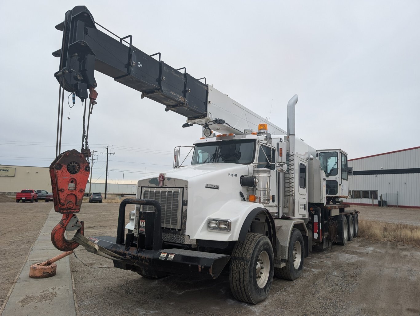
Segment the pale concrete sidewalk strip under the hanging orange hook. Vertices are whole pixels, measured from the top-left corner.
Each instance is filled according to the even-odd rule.
[[[2,316],[76,315],[68,256],[56,262],[57,274],[46,279],[31,279],[29,267],[60,254],[51,243],[51,231],[62,214],[50,211],[28,259],[6,303]],[[24,233],[24,230],[22,231]]]

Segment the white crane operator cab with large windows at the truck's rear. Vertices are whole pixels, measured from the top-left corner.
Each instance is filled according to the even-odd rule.
[[[325,195],[327,204],[342,204],[340,198],[349,197],[349,174],[347,153],[341,149],[317,150],[322,170],[325,172]]]

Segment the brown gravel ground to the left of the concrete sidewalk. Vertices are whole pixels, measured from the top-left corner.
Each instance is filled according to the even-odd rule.
[[[0,203],[0,306],[52,208],[53,203],[40,201]]]

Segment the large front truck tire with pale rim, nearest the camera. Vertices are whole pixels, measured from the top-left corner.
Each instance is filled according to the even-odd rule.
[[[249,232],[232,251],[229,284],[232,294],[242,302],[257,304],[270,292],[274,274],[274,252],[270,240]]]

